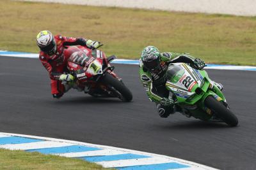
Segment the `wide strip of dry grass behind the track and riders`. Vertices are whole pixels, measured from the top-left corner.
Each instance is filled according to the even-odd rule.
[[[38,52],[36,34],[47,29],[101,41],[102,50],[119,58],[138,59],[155,45],[208,63],[256,66],[256,17],[6,0],[0,11],[1,50]]]

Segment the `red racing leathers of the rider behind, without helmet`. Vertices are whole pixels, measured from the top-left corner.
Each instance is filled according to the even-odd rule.
[[[64,56],[63,51],[65,46],[72,45],[86,45],[86,42],[92,41],[84,38],[72,38],[61,35],[54,36],[56,41],[57,52],[54,55],[48,55],[47,53],[40,51],[39,59],[41,60],[45,69],[47,69],[51,78],[51,94],[53,97],[60,98],[66,92],[65,85],[61,84],[60,76],[67,71],[67,57]]]

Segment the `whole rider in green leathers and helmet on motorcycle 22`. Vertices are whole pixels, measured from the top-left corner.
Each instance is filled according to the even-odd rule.
[[[160,117],[168,117],[175,111],[180,111],[175,106],[172,93],[165,88],[166,71],[170,63],[184,62],[194,69],[202,69],[205,62],[195,58],[189,53],[163,52],[160,53],[155,46],[147,46],[141,52],[140,57],[140,80],[147,92],[150,101],[157,104]],[[220,83],[214,82],[222,90]]]

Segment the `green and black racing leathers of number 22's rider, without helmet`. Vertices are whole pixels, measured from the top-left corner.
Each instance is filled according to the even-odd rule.
[[[184,62],[195,69],[202,69],[205,63],[192,57],[188,53],[163,52],[160,55],[160,67],[154,72],[149,71],[140,60],[140,80],[147,92],[150,101],[157,105],[160,117],[168,117],[175,111],[180,111],[179,106],[173,103],[172,93],[165,88],[166,71],[170,63]]]

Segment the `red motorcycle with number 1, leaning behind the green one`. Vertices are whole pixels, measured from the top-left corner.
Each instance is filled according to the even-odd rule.
[[[105,53],[84,46],[68,46],[64,52],[68,58],[68,73],[75,77],[79,89],[94,97],[118,97],[122,101],[131,101],[132,93],[121,78],[113,72],[110,62],[115,55],[106,57]]]

